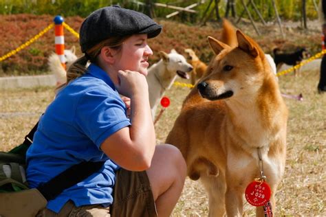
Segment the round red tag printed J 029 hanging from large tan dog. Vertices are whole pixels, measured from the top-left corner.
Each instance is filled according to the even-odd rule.
[[[245,192],[248,203],[260,207],[270,200],[270,185],[265,181],[252,181]]]

